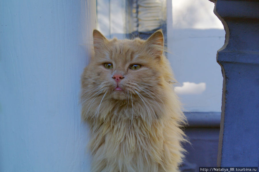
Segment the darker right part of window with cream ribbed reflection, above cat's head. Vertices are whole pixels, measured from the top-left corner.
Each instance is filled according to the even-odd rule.
[[[149,37],[155,30],[162,28],[166,33],[165,0],[128,0],[126,1],[127,37]]]

